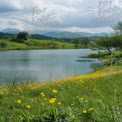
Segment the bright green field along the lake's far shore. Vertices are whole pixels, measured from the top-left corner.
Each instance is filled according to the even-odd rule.
[[[74,44],[59,42],[53,40],[37,40],[28,39],[25,43],[18,43],[9,41],[7,39],[0,39],[1,43],[6,43],[4,47],[0,46],[0,50],[26,50],[26,49],[73,49]],[[53,46],[55,44],[55,47]]]

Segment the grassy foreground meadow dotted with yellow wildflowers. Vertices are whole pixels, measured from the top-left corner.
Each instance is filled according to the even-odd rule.
[[[0,122],[121,122],[122,68],[0,88]]]

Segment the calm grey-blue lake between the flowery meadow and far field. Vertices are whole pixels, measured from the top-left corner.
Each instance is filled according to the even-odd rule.
[[[0,51],[0,81],[52,81],[97,70],[98,59],[80,58],[90,49]]]

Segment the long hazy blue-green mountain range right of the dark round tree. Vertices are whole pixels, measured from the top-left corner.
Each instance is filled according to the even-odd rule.
[[[80,38],[80,37],[92,37],[92,36],[105,36],[108,33],[85,33],[85,32],[47,32],[43,34],[48,37],[55,38]]]

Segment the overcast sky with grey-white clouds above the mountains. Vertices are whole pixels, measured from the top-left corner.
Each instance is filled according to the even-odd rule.
[[[0,30],[111,32],[122,0],[0,0]]]

